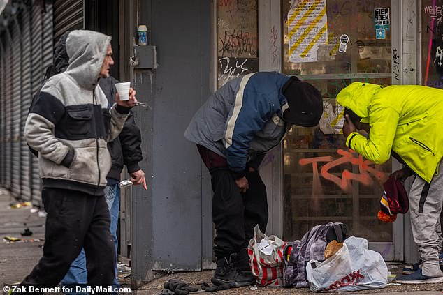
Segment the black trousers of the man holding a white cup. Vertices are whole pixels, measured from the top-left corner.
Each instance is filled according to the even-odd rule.
[[[115,246],[105,197],[44,188],[42,198],[48,213],[43,257],[21,285],[57,286],[83,247],[88,285],[111,286],[115,276]]]

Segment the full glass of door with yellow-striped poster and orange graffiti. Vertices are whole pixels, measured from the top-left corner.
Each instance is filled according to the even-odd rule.
[[[350,234],[393,240],[377,218],[391,160],[375,165],[345,146],[335,97],[352,82],[391,84],[391,1],[282,0],[282,69],[324,96],[318,128],[292,128],[284,140],[286,241],[314,225],[344,222]]]

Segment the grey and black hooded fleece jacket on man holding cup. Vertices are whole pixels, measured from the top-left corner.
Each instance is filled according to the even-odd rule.
[[[43,85],[24,126],[29,146],[39,153],[43,188],[103,195],[111,166],[106,142],[122,130],[129,108],[113,105],[100,87],[110,37],[71,31],[68,68]]]

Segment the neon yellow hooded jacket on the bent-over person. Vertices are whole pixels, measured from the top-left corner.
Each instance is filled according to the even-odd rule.
[[[377,164],[386,162],[392,149],[428,183],[437,174],[443,151],[442,89],[354,82],[338,93],[337,103],[371,126],[369,139],[349,135],[350,149]]]

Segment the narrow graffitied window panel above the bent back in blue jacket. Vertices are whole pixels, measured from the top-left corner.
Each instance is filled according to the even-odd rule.
[[[217,86],[259,71],[258,0],[217,0]]]

